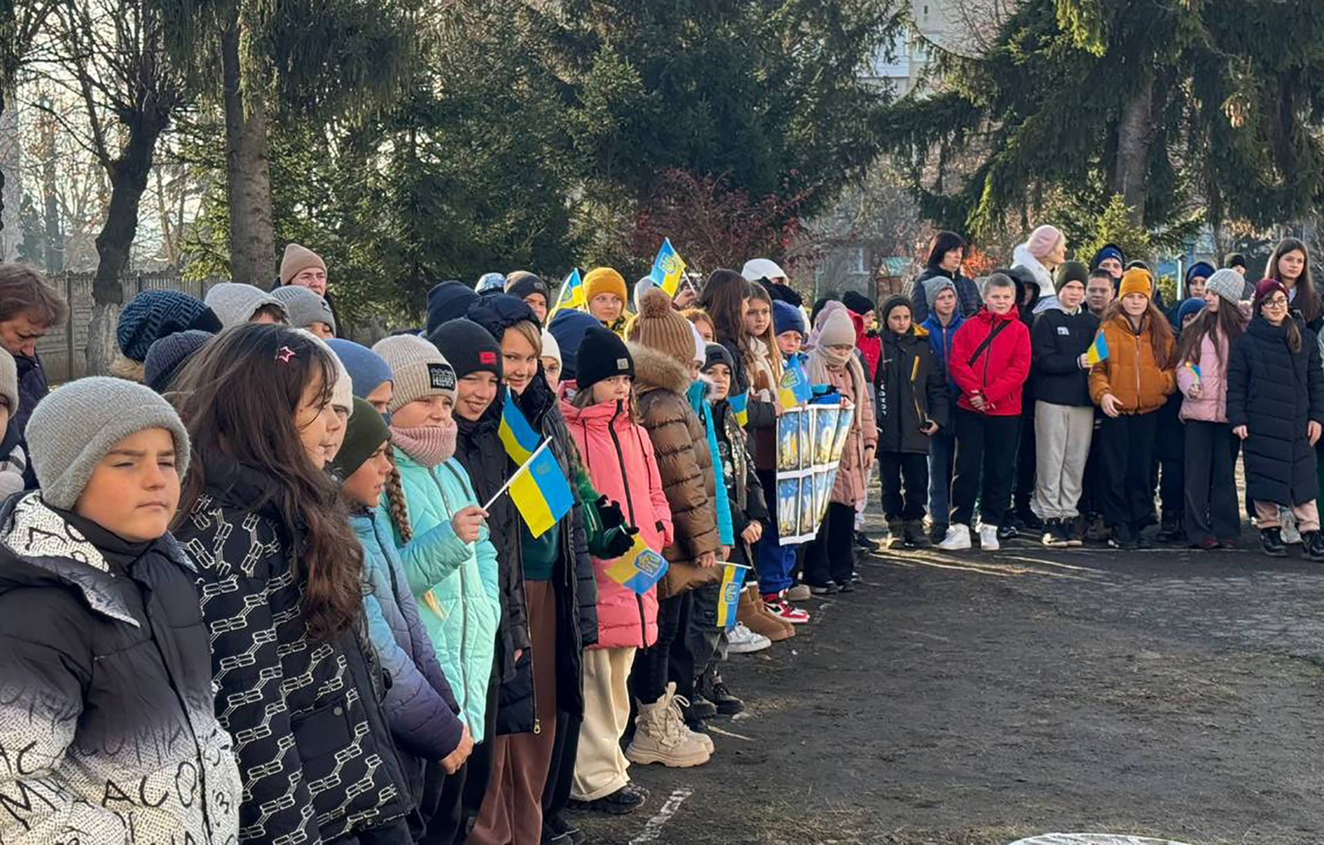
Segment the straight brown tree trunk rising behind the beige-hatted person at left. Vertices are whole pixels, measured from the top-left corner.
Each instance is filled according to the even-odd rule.
[[[221,33],[225,94],[225,197],[230,213],[230,278],[262,290],[275,279],[271,175],[267,168],[266,103],[244,91],[236,11]]]

